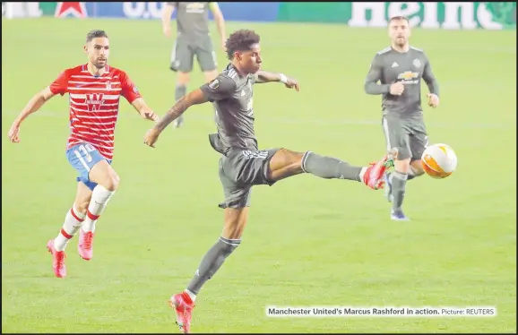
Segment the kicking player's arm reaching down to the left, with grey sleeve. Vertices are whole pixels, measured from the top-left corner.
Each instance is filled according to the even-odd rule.
[[[159,139],[160,133],[177,117],[181,116],[186,110],[194,105],[201,105],[205,102],[213,102],[231,97],[236,91],[236,82],[229,76],[220,74],[212,82],[203,84],[199,89],[187,93],[179,99],[177,103],[170,107],[168,113],[163,116],[156,125],[151,128],[144,136],[144,143],[154,147],[154,143]]]

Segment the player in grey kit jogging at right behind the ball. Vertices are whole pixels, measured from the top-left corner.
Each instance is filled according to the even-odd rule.
[[[408,180],[421,176],[421,156],[427,147],[427,128],[421,107],[421,78],[427,83],[428,106],[439,106],[439,85],[423,50],[410,47],[409,20],[389,21],[391,47],[379,51],[367,73],[367,94],[382,94],[387,148],[398,149],[394,171],[385,175],[385,195],[392,202],[391,219],[408,220],[401,208]],[[379,84],[377,82],[380,82]]]

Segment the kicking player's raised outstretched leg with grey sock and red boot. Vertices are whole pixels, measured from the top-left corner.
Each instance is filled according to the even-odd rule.
[[[393,167],[397,154],[398,150],[394,148],[383,159],[368,167],[355,167],[340,159],[321,156],[312,151],[301,153],[281,149],[270,160],[268,177],[272,181],[279,181],[306,172],[325,179],[355,180],[377,190],[384,187],[384,173]]]

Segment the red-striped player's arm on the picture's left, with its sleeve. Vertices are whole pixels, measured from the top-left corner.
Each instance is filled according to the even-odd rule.
[[[11,125],[11,129],[9,129],[9,133],[7,133],[7,136],[9,136],[9,140],[13,143],[20,142],[19,133],[20,133],[20,125],[22,125],[23,120],[25,120],[28,116],[30,116],[32,113],[35,113],[41,108],[45,103],[54,97],[56,94],[64,95],[68,90],[68,80],[67,80],[67,74],[61,73],[56,81],[54,81],[50,86],[45,88],[44,90],[39,91],[32,97],[32,99],[29,100],[27,105],[23,107],[22,112],[13,122],[13,125]]]

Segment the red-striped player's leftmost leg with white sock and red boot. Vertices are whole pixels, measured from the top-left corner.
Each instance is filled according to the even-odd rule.
[[[47,243],[47,250],[52,253],[54,274],[57,278],[66,277],[65,248],[68,241],[81,229],[86,217],[86,208],[91,199],[91,190],[84,184],[78,183],[77,194],[73,207],[65,216],[63,227],[56,238]]]

